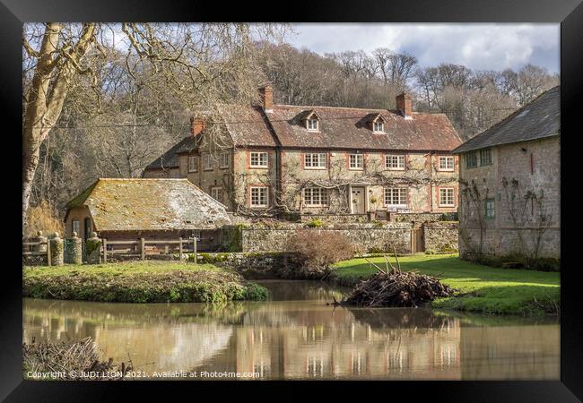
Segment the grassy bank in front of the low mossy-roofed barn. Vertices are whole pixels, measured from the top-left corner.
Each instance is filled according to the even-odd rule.
[[[141,261],[24,267],[22,296],[125,303],[218,303],[265,300],[267,290],[213,264]]]

